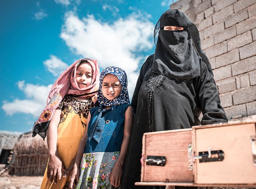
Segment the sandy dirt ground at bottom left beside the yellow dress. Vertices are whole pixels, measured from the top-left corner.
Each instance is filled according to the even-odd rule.
[[[0,177],[0,189],[39,189],[42,179],[42,176]]]

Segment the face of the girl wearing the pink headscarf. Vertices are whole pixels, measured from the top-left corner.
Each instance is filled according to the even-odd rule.
[[[89,63],[81,63],[76,68],[76,82],[80,89],[86,88],[91,84],[93,70]]]

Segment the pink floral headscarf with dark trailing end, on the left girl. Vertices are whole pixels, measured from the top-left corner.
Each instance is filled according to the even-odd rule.
[[[86,88],[80,89],[75,79],[76,69],[80,63],[84,62],[91,65],[93,75],[91,84]],[[42,138],[45,138],[46,130],[49,126],[50,120],[52,119],[53,113],[65,95],[75,95],[79,96],[80,98],[91,98],[95,103],[97,101],[98,89],[99,65],[97,60],[83,58],[75,61],[62,74],[60,74],[60,76],[54,82],[47,99],[47,105],[35,123],[32,136],[34,137],[35,135],[39,134],[42,136]]]

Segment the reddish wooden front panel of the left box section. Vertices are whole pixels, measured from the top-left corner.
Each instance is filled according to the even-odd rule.
[[[188,169],[188,144],[192,143],[192,129],[161,131],[146,134],[145,158],[165,156],[165,166],[142,167],[144,182],[193,182],[193,171]]]

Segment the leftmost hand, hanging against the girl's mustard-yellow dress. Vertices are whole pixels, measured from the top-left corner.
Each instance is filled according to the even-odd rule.
[[[59,155],[49,156],[47,178],[50,179],[50,183],[54,179],[54,183],[57,184],[57,178],[61,179],[61,169],[65,169],[61,157]]]

